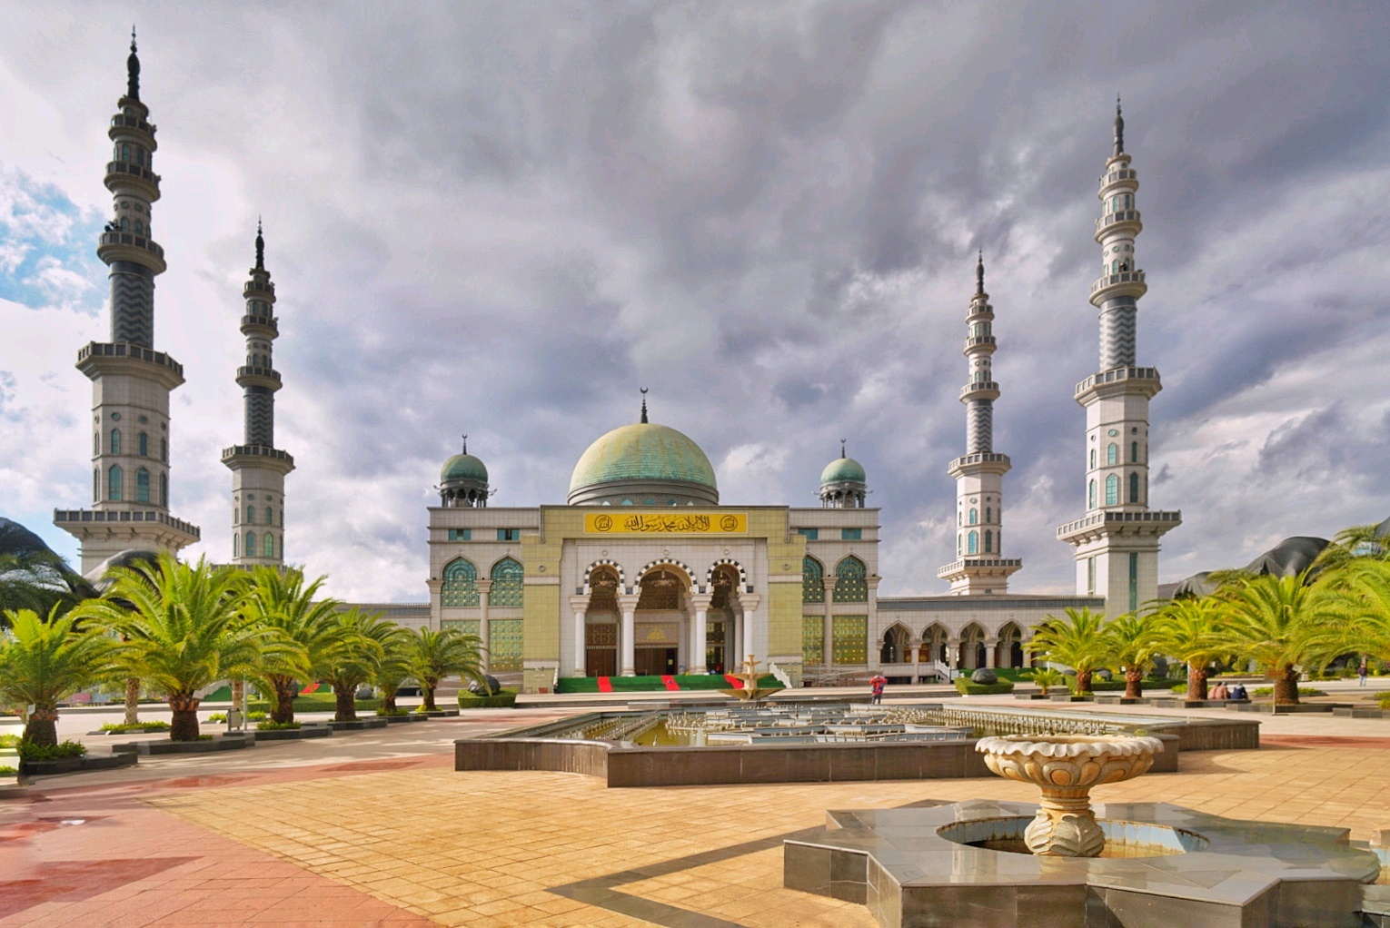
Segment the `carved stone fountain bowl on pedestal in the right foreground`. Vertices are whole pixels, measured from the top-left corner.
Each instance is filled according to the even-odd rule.
[[[1098,857],[1105,834],[1095,824],[1091,788],[1145,772],[1163,743],[1127,735],[1004,735],[981,738],[974,749],[999,777],[1033,784],[1042,793],[1023,834],[1029,850],[1044,857]]]

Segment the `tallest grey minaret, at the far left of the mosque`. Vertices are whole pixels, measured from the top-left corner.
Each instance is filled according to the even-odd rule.
[[[114,218],[96,250],[111,270],[111,340],[79,350],[76,365],[92,381],[92,508],[53,513],[81,543],[83,574],[125,550],[178,552],[199,540],[196,525],[170,515],[170,392],[183,365],[154,350],[154,278],[165,267],[152,228],[158,146],[140,103],[133,29],[125,67],[125,96],[107,129]]]

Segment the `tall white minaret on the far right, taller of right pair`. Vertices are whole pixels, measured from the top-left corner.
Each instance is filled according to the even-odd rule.
[[[1158,370],[1136,367],[1138,299],[1148,290],[1137,270],[1138,175],[1125,151],[1125,119],[1115,103],[1115,150],[1101,175],[1101,276],[1091,285],[1099,310],[1099,370],[1076,385],[1086,407],[1086,515],[1056,529],[1076,547],[1076,590],[1104,596],[1109,617],[1158,596],[1158,542],[1182,524],[1180,513],[1148,508],[1148,401],[1162,389]]]

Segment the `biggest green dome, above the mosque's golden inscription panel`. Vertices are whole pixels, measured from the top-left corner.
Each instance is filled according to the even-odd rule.
[[[652,422],[623,425],[589,445],[570,477],[571,503],[599,502],[592,499],[592,492],[582,493],[582,500],[575,495],[602,485],[613,485],[614,493],[627,492],[637,506],[646,504],[648,496],[656,499],[657,506],[667,504],[671,492],[684,496],[696,490],[699,497],[719,499],[714,468],[699,445],[673,428]],[[689,489],[681,493],[673,485]]]

